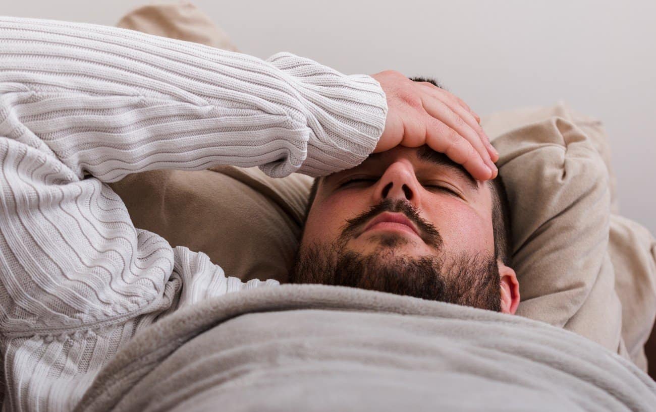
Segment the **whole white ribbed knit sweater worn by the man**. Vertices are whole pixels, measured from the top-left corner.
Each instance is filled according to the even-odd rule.
[[[106,182],[152,169],[358,165],[380,85],[288,53],[267,61],[131,30],[0,17],[3,411],[69,411],[135,333],[226,278],[134,228]],[[230,241],[230,239],[226,239]]]

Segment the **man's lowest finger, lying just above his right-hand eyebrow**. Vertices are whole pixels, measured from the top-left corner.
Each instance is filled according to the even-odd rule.
[[[432,150],[446,154],[449,159],[461,164],[475,179],[493,178],[494,173],[466,138],[440,120],[427,117],[427,122],[433,126],[426,129],[426,144]]]

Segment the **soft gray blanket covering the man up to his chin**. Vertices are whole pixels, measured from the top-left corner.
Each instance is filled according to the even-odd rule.
[[[519,316],[325,285],[182,308],[101,371],[77,411],[656,411],[656,384]]]

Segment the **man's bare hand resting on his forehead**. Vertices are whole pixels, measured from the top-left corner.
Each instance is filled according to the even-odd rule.
[[[374,153],[398,145],[417,148],[428,144],[460,163],[478,180],[497,176],[493,161],[499,159],[499,154],[478,124],[480,117],[460,98],[392,70],[371,77],[380,83],[388,105],[385,130]]]

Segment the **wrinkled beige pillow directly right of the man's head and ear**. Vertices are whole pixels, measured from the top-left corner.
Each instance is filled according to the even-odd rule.
[[[550,117],[494,140],[512,220],[518,314],[621,352],[621,304],[607,247],[607,169],[590,138]]]

